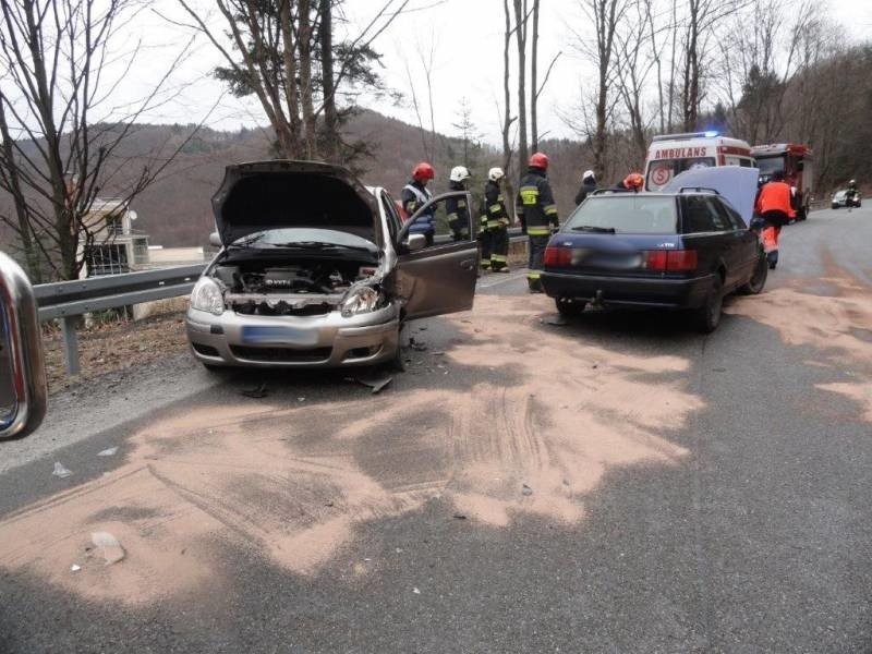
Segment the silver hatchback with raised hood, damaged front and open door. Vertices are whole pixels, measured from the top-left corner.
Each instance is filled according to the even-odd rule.
[[[340,166],[271,160],[227,168],[213,197],[220,246],[191,294],[187,338],[207,367],[399,363],[404,320],[472,307],[479,250],[452,241],[446,201],[405,223],[389,194]],[[409,233],[435,222],[432,243]],[[443,235],[445,234],[445,235]]]

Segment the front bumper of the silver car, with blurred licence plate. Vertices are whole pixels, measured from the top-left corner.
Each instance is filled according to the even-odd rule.
[[[388,361],[399,347],[400,311],[395,302],[344,317],[258,316],[231,310],[217,316],[189,308],[187,340],[207,365],[244,367],[343,367]]]

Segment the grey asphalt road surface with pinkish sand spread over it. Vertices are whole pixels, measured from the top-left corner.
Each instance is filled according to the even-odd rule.
[[[708,337],[518,271],[379,395],[185,356],[59,397],[0,448],[0,652],[870,651],[870,242],[787,228]]]

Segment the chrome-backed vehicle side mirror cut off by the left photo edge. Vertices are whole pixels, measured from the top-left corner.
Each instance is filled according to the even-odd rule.
[[[46,414],[47,395],[34,289],[0,252],[0,438],[34,432]]]

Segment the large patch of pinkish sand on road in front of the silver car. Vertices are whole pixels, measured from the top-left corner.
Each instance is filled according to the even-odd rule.
[[[471,525],[535,514],[583,529],[585,497],[610,469],[681,464],[668,429],[703,402],[688,360],[590,344],[542,324],[553,306],[484,295],[449,318],[462,336],[449,366],[491,373],[459,389],[395,383],[325,404],[268,398],[159,416],[119,468],[0,522],[0,566],[140,604],[220,589],[231,548],[299,574],[364,574],[339,556],[355,529],[437,497],[447,520]],[[117,537],[124,559],[106,565],[93,532]]]

